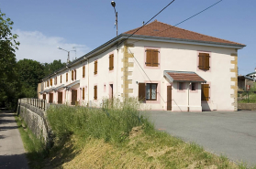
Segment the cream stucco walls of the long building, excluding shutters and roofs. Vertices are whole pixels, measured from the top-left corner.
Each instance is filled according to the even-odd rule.
[[[76,104],[100,107],[104,99],[112,98],[112,94],[119,99],[138,98],[139,83],[146,85],[153,83],[156,84],[156,90],[151,92],[156,92],[157,96],[155,100],[141,101],[146,109],[167,111],[167,87],[171,86],[170,111],[237,111],[237,57],[238,49],[243,48],[242,46],[136,36],[122,42],[126,37],[128,36],[115,37],[103,46],[74,60],[66,68],[42,79],[41,85],[44,90],[40,92],[40,99],[45,97],[49,101],[52,93],[51,101],[58,103],[60,100],[58,95],[61,92],[61,103],[72,104],[72,100],[75,100]],[[148,49],[158,51],[158,65],[155,67],[146,65]],[[209,55],[208,70],[198,68],[200,53]],[[114,69],[109,70],[109,56],[112,54]],[[95,61],[97,61],[96,74]],[[73,73],[73,79],[72,70],[76,72]],[[208,100],[202,100],[201,96],[201,84],[204,83],[195,82],[192,90],[192,81],[166,79],[164,71],[168,70],[195,72],[205,79],[209,86]],[[85,73],[84,77],[83,73]],[[55,77],[57,84],[54,82]],[[53,80],[52,86],[50,79]],[[183,85],[182,89],[179,89],[181,88],[179,83]],[[74,97],[75,99],[72,99]]]

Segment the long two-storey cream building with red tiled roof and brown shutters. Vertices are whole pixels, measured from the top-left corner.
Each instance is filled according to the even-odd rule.
[[[40,98],[101,106],[137,97],[150,110],[237,111],[238,49],[245,45],[157,20],[112,38],[42,79]]]

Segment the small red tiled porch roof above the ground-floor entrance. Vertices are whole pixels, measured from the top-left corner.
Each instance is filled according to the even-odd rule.
[[[166,72],[170,77],[173,78],[173,81],[196,81],[196,82],[206,82],[205,79],[202,79],[195,72]]]

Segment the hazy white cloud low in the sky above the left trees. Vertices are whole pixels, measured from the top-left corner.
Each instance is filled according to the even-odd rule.
[[[89,48],[82,44],[69,44],[66,43],[62,37],[46,37],[39,31],[22,31],[15,30],[15,34],[18,35],[17,40],[20,42],[18,50],[16,51],[17,60],[28,58],[34,59],[41,63],[50,63],[54,59],[61,59],[62,62],[66,62],[68,53],[58,49],[57,47],[64,48],[66,50],[74,50],[76,48],[76,57],[82,57],[89,52]],[[70,58],[75,58],[75,52],[70,52]]]

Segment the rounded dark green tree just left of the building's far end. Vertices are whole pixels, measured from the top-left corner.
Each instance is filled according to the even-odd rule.
[[[38,83],[44,77],[44,66],[36,60],[24,58],[17,62],[17,69],[22,85],[20,97],[37,97]]]

